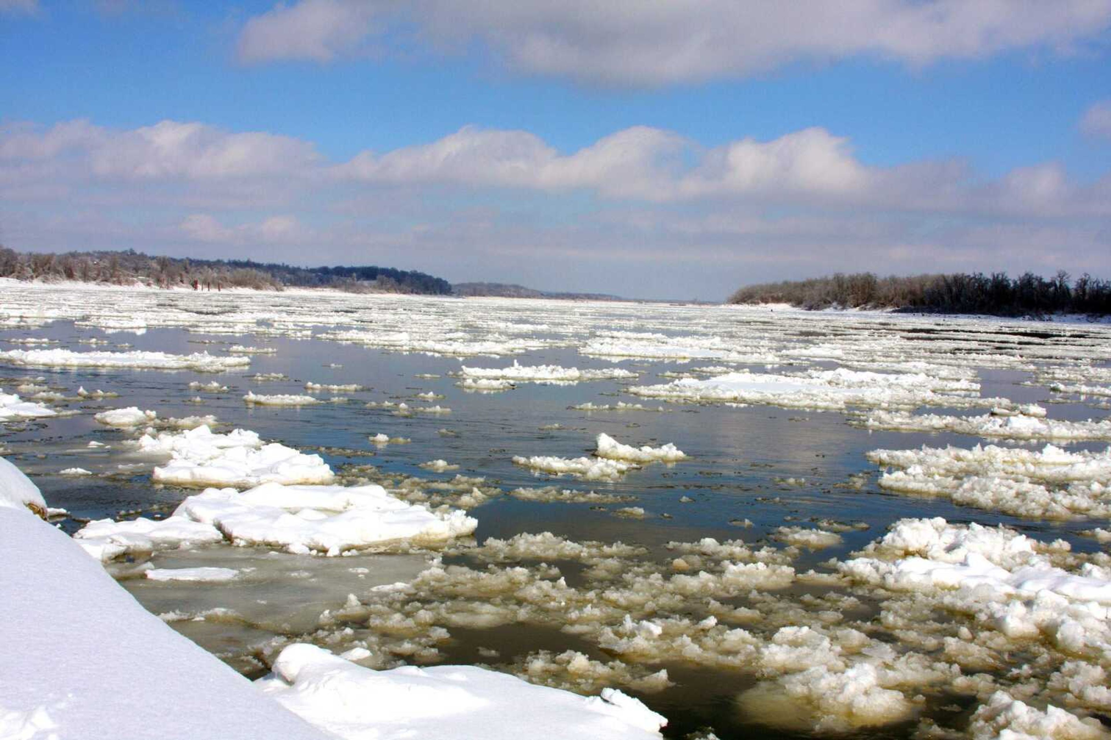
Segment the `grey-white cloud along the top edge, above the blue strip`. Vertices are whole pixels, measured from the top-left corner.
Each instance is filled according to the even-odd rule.
[[[1111,0],[300,0],[250,19],[239,54],[329,61],[416,29],[428,49],[478,40],[522,73],[657,86],[861,54],[925,64],[1068,51],[1109,24]]]

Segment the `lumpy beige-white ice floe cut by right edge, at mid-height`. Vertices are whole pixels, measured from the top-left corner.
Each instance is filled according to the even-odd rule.
[[[989,444],[972,449],[922,447],[873,450],[868,459],[888,468],[880,487],[1018,517],[1111,517],[1111,448],[1068,452]]]

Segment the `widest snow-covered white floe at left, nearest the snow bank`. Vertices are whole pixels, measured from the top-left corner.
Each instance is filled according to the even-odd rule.
[[[462,511],[429,511],[406,503],[381,486],[280,486],[264,483],[240,493],[210,488],[191,496],[161,521],[90,522],[74,537],[89,554],[109,561],[229,540],[293,553],[338,556],[391,542],[443,542],[470,534],[478,521]]]

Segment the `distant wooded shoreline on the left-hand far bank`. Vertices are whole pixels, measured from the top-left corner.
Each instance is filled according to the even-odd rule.
[[[337,288],[352,292],[448,294],[451,283],[423,272],[394,268],[299,268],[252,260],[197,260],[122,252],[17,252],[0,246],[0,277],[19,280],[80,280],[162,288],[191,287],[219,290],[283,287]]]

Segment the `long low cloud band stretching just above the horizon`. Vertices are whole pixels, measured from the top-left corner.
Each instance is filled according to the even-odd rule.
[[[637,297],[720,298],[845,264],[1111,274],[1111,174],[877,167],[822,128],[704,148],[633,127],[560,151],[467,127],[337,162],[309,141],[198,122],[8,124],[0,201],[17,249],[367,260]]]

